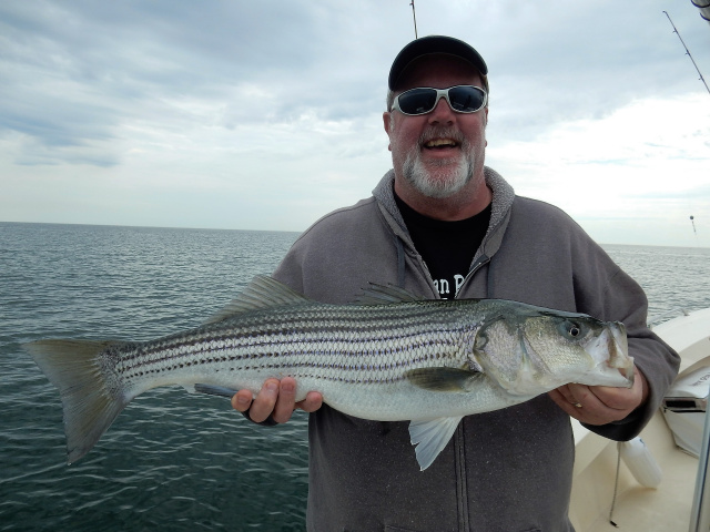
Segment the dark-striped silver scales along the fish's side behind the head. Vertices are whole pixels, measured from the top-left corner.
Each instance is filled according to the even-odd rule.
[[[195,366],[256,371],[262,380],[290,375],[353,383],[392,382],[403,379],[413,365],[454,359],[454,347],[460,341],[450,323],[449,330],[443,331],[440,320],[433,320],[425,305],[408,306],[398,316],[386,307],[323,311],[317,304],[285,309],[276,316],[257,313],[251,323],[236,321],[231,327],[225,321],[124,351],[116,370],[136,386],[143,377],[190,371]],[[399,325],[393,328],[395,319]],[[343,361],[348,358],[357,362]],[[313,375],[315,368],[325,371]],[[394,370],[398,375],[392,375]],[[264,376],[264,371],[271,375]],[[352,371],[356,371],[354,377]]]

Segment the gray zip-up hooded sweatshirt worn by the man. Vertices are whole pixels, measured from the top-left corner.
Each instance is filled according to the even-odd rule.
[[[514,299],[623,321],[649,400],[622,421],[589,429],[615,440],[635,437],[679,365],[646,326],[643,291],[564,212],[516,196],[488,167],[485,176],[493,190],[490,223],[457,297]],[[371,282],[438,298],[397,209],[393,181],[389,171],[373,197],[317,221],[274,277],[325,303],[352,301]],[[572,530],[572,431],[547,395],[464,418],[425,471],[407,422],[367,421],[323,406],[310,416],[308,438],[310,531]]]

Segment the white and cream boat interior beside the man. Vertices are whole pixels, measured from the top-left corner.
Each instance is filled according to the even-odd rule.
[[[676,382],[710,367],[710,308],[684,313],[652,329],[681,357]],[[696,421],[700,416],[704,422],[704,398],[698,400],[698,408],[688,409],[687,415]],[[702,492],[707,442],[700,459],[681,449],[678,431],[669,426],[669,419],[674,420],[669,409],[667,400],[640,439],[630,443],[607,440],[572,420],[576,458],[569,515],[577,532],[615,526],[627,532],[708,530],[707,524],[693,528],[699,520],[701,498],[696,491]],[[702,424],[698,438],[702,440]]]

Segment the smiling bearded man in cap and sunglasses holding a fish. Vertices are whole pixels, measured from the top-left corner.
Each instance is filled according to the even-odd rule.
[[[405,47],[384,113],[394,170],[373,197],[307,229],[274,277],[327,303],[352,300],[374,282],[429,298],[516,299],[620,320],[635,385],[568,385],[468,416],[423,472],[406,422],[352,418],[316,392],[295,405],[292,378],[270,379],[254,400],[241,390],[233,406],[256,422],[285,422],[296,407],[312,412],[308,530],[569,531],[569,417],[629,439],[677,372],[678,356],[646,327],[640,287],[566,214],[516,196],[484,166],[487,73],[456,39]]]

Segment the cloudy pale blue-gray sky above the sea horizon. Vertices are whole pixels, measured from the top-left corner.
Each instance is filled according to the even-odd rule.
[[[710,246],[690,0],[416,0],[490,71],[487,164],[601,243]],[[0,2],[0,221],[302,231],[369,195],[409,0]],[[690,215],[694,216],[693,233]]]

